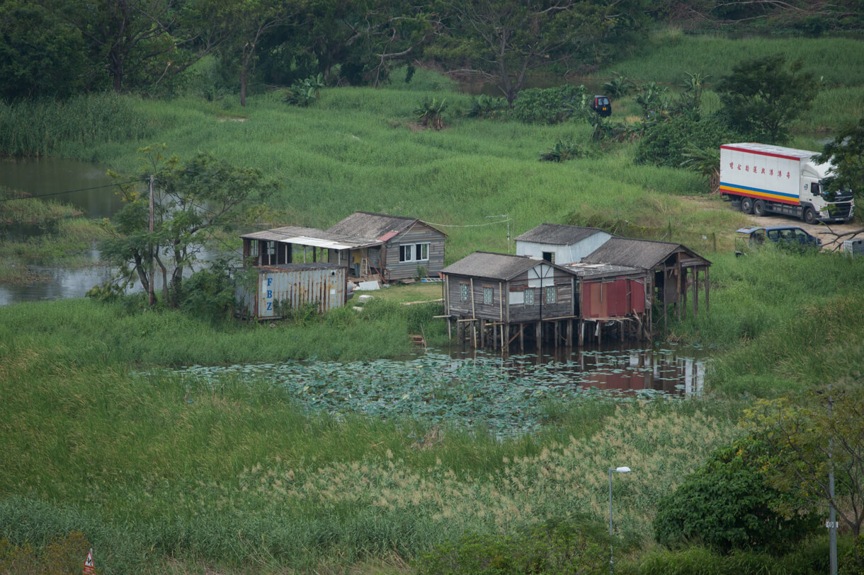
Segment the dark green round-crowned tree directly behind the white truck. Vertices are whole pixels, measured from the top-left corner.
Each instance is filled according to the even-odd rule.
[[[757,142],[789,141],[789,126],[810,110],[819,82],[797,60],[787,66],[781,55],[746,60],[733,66],[718,92],[733,130]]]

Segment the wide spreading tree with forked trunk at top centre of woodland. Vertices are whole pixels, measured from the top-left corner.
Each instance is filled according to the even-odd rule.
[[[641,0],[443,0],[447,34],[428,54],[492,80],[512,106],[528,73],[603,60],[607,42],[641,27]],[[454,69],[454,67],[461,69]]]

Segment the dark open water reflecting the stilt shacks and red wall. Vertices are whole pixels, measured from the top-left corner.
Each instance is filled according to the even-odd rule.
[[[498,356],[457,348],[448,352],[456,359],[495,363],[512,376],[637,394],[701,394],[707,362],[701,348],[631,348],[619,342],[524,355]]]

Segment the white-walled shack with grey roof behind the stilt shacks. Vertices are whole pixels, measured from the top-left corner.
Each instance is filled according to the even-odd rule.
[[[612,237],[600,228],[540,224],[516,237],[516,254],[564,265],[580,262]]]

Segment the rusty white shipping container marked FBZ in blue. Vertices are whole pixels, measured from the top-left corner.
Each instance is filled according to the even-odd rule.
[[[240,307],[256,319],[276,319],[284,310],[315,304],[318,313],[345,305],[347,268],[335,263],[288,263],[257,267],[257,287],[238,285]]]

